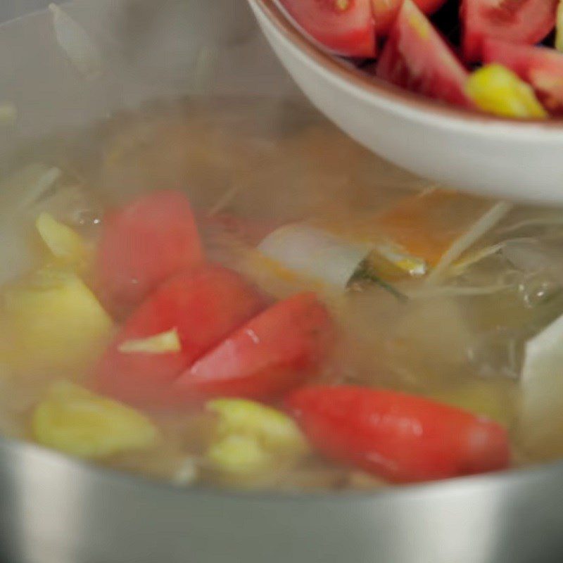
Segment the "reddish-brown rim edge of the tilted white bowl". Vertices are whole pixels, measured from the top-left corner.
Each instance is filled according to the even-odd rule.
[[[279,0],[249,0],[255,8],[274,26],[274,28],[301,52],[302,56],[310,59],[323,68],[333,77],[346,82],[349,87],[361,89],[370,97],[384,99],[396,106],[403,106],[415,110],[417,113],[434,114],[434,117],[445,120],[456,120],[466,125],[502,125],[508,127],[512,132],[532,132],[543,130],[543,132],[563,133],[562,118],[529,119],[504,118],[498,115],[479,113],[478,111],[453,104],[426,98],[415,92],[400,88],[395,84],[381,80],[376,76],[370,76],[354,65],[347,63],[344,58],[329,53],[314,39],[304,34],[299,27],[293,23],[280,5]]]

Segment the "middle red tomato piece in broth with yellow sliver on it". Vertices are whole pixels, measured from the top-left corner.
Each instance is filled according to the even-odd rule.
[[[172,381],[225,336],[265,307],[239,274],[203,265],[166,281],[141,304],[106,351],[96,372],[100,391],[128,403],[170,403]],[[126,341],[177,329],[182,350],[124,353]]]

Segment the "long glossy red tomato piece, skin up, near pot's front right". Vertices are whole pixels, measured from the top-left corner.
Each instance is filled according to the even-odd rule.
[[[390,481],[445,479],[509,464],[502,426],[417,396],[312,386],[286,404],[321,453]]]

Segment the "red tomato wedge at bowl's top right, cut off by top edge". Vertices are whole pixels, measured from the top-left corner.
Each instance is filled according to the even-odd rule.
[[[466,61],[481,60],[483,39],[540,42],[555,27],[559,0],[462,0],[462,49]]]

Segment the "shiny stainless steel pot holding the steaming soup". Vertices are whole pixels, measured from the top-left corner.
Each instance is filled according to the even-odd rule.
[[[0,130],[1,153],[27,137],[189,91],[205,42],[220,55],[208,69],[208,93],[298,95],[254,27],[245,27],[242,2],[224,11],[231,19],[220,34],[214,18],[177,26],[189,35],[186,56],[159,69],[158,81],[150,65],[125,66],[127,49],[115,47],[126,40],[115,36],[120,28],[106,37],[91,13],[84,18],[88,10],[73,13],[109,55],[96,82],[61,55],[46,13],[0,27],[0,100],[14,101],[19,113],[15,127]],[[225,31],[230,25],[236,33]],[[0,559],[10,563],[563,561],[562,463],[376,494],[243,494],[179,489],[0,441],[0,498]]]

